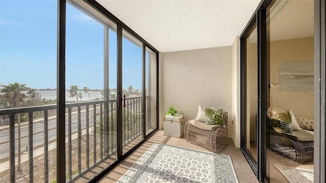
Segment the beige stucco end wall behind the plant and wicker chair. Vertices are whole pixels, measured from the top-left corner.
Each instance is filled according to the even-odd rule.
[[[196,118],[201,104],[228,112],[232,137],[231,53],[232,46],[160,53],[159,128],[170,106],[187,121]]]

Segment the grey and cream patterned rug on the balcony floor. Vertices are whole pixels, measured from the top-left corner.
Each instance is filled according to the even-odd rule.
[[[230,156],[155,143],[118,182],[238,182]]]

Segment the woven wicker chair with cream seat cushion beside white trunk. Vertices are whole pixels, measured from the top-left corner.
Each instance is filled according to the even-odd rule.
[[[201,121],[190,120],[184,124],[185,139],[195,145],[219,153],[228,138],[228,113],[223,112],[224,126],[207,125]]]

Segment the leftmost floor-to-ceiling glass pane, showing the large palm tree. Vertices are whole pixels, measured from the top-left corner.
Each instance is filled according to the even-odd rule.
[[[52,181],[57,1],[1,1],[0,19],[0,182]]]

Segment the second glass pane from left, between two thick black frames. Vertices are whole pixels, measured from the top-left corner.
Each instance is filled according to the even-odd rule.
[[[66,179],[89,180],[118,160],[117,24],[83,2],[66,14]]]

